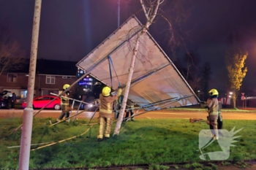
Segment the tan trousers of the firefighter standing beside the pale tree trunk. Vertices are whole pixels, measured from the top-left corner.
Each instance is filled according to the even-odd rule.
[[[98,123],[99,123],[99,133],[98,133],[97,139],[103,139],[103,134],[105,137],[109,138],[110,132],[111,132],[111,126],[113,123],[112,114],[99,112]]]

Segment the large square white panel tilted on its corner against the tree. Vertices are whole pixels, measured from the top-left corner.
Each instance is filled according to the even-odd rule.
[[[142,28],[140,21],[132,16],[76,66],[105,85],[113,85],[113,89],[117,89],[120,84],[124,90],[132,48]],[[113,62],[111,69],[110,61]],[[176,66],[149,33],[140,37],[128,98],[146,110],[188,106],[198,104],[199,101]]]

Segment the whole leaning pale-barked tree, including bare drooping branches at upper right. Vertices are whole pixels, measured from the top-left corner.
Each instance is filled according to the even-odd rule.
[[[166,5],[163,5],[166,4]],[[164,31],[167,31],[168,37],[168,46],[170,50],[174,53],[175,48],[179,44],[184,45],[184,39],[181,38],[181,34],[178,29],[174,28],[173,23],[179,23],[182,18],[185,17],[185,13],[182,7],[181,1],[165,1],[165,0],[140,0],[140,5],[143,11],[143,15],[146,17],[146,24],[143,25],[142,30],[136,35],[135,42],[132,42],[130,45],[132,48],[132,58],[129,66],[129,74],[127,78],[126,88],[124,90],[124,98],[121,104],[121,110],[118,117],[118,121],[116,123],[116,128],[113,133],[114,135],[118,135],[121,128],[121,123],[124,117],[124,112],[127,106],[127,98],[129,95],[129,88],[132,81],[132,74],[135,69],[135,61],[139,52],[139,46],[143,44],[143,41],[140,41],[141,37],[148,32],[149,27],[156,21],[156,17],[162,18],[167,23],[166,28],[162,28]],[[172,8],[173,7],[173,8]],[[167,10],[170,9],[168,12]],[[178,39],[180,41],[178,41]],[[179,42],[179,43],[178,43]]]

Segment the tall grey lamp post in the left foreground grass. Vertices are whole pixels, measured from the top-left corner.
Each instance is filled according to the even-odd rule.
[[[33,98],[34,98],[34,81],[37,66],[37,47],[39,36],[39,23],[41,14],[42,0],[35,0],[34,4],[34,21],[31,39],[31,53],[29,63],[29,81],[28,81],[28,97],[26,101],[26,108],[23,111],[23,126],[20,140],[20,158],[19,170],[29,169],[29,157],[31,147],[31,134],[33,125]]]

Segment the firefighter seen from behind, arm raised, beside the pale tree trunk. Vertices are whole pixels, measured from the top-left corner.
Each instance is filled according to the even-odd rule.
[[[122,89],[118,88],[116,95],[111,94],[111,88],[105,87],[102,89],[102,93],[99,94],[99,133],[97,141],[101,142],[103,137],[108,139],[110,137],[111,126],[113,123],[113,102],[121,96]]]

